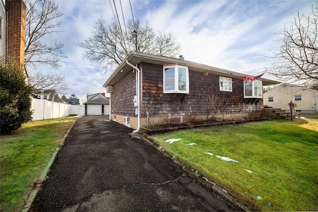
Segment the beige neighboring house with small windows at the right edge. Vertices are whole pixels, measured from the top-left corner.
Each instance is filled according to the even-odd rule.
[[[296,103],[294,112],[318,113],[318,90],[283,83],[264,93],[263,104],[290,112],[290,101]]]

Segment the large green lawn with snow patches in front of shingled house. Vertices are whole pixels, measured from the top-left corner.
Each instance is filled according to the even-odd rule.
[[[251,122],[153,138],[252,210],[318,211],[318,119]],[[181,140],[165,142],[169,139]]]

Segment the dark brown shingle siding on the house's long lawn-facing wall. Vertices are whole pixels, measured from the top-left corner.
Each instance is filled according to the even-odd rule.
[[[250,113],[260,111],[262,108],[262,100],[257,104],[244,103],[242,79],[233,79],[232,92],[220,91],[218,75],[204,75],[203,72],[189,70],[189,95],[186,95],[181,102],[183,94],[177,94],[173,99],[173,94],[163,93],[162,66],[143,63],[142,75],[142,100],[144,104],[147,103],[154,108],[154,115],[162,113],[171,116],[203,115],[201,104],[209,94],[232,99],[225,114]]]

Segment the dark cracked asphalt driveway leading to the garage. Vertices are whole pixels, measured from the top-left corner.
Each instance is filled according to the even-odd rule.
[[[237,211],[132,129],[85,116],[57,154],[30,211]]]

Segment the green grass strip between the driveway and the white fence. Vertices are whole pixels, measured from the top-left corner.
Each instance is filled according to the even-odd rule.
[[[78,117],[24,124],[0,140],[0,210],[20,211],[64,135]]]

